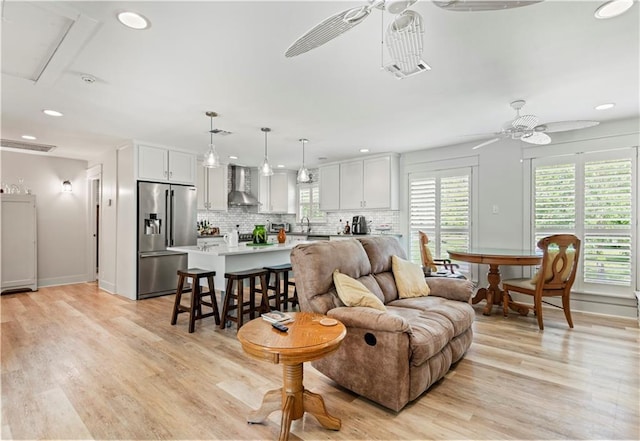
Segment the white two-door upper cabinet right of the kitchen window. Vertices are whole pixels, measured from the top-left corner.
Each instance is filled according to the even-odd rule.
[[[341,163],[340,209],[397,210],[399,177],[398,155]]]

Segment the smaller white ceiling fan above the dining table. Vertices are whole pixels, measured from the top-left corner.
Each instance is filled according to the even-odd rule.
[[[587,127],[593,127],[600,124],[598,121],[555,121],[545,124],[538,124],[539,119],[535,115],[520,115],[520,109],[524,107],[524,100],[513,101],[511,108],[516,111],[516,117],[507,121],[502,125],[502,129],[499,132],[495,132],[495,138],[484,141],[475,147],[473,150],[479,149],[501,139],[511,138],[520,139],[529,144],[545,145],[551,142],[551,137],[547,133],[554,132],[568,132],[569,130],[584,129]]]

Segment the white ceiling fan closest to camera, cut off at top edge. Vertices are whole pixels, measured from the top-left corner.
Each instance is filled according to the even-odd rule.
[[[285,52],[287,58],[304,54],[334,38],[344,34],[364,21],[371,11],[379,9],[396,17],[389,24],[386,44],[393,62],[384,68],[396,78],[406,78],[420,72],[431,70],[422,60],[424,26],[422,16],[410,10],[418,0],[368,0],[363,6],[356,6],[325,19],[302,37],[298,38]],[[451,11],[491,11],[527,6],[542,0],[452,0],[434,1],[445,10]]]

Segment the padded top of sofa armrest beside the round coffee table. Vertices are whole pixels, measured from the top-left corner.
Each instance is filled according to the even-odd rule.
[[[363,328],[372,331],[409,332],[409,323],[398,315],[364,306],[341,306],[330,309],[329,317],[340,320],[347,328]]]

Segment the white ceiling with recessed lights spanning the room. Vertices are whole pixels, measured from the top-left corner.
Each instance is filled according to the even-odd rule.
[[[310,166],[362,147],[471,146],[513,118],[516,99],[541,122],[638,117],[640,7],[596,20],[603,1],[451,12],[421,0],[412,9],[424,20],[432,70],[403,80],[380,69],[377,9],[326,45],[285,58],[312,26],[364,2],[7,1],[2,138],[34,135],[57,146],[51,155],[87,160],[131,139],[204,153],[213,110],[215,127],[233,132],[215,137],[223,161],[258,165],[260,128],[270,127],[270,161],[297,168],[301,137],[310,140]],[[151,28],[122,26],[115,14],[125,9]],[[87,74],[93,84],[81,79]],[[604,102],[617,106],[594,110]]]

